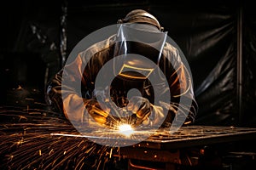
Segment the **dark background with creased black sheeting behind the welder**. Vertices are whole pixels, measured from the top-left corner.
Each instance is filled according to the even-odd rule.
[[[44,103],[46,83],[82,38],[143,8],[189,62],[199,105],[195,123],[256,127],[253,1],[24,0],[0,8],[1,105]]]

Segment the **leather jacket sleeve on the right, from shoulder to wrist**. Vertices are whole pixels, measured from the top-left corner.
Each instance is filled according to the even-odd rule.
[[[167,61],[162,60],[160,67],[165,72],[171,93],[170,114],[169,119],[168,116],[166,117],[166,122],[173,122],[174,120],[179,122],[179,118],[183,120],[182,117],[186,116],[183,125],[193,124],[198,105],[195,100],[191,72],[183,64],[177,48],[167,43],[163,54]]]

